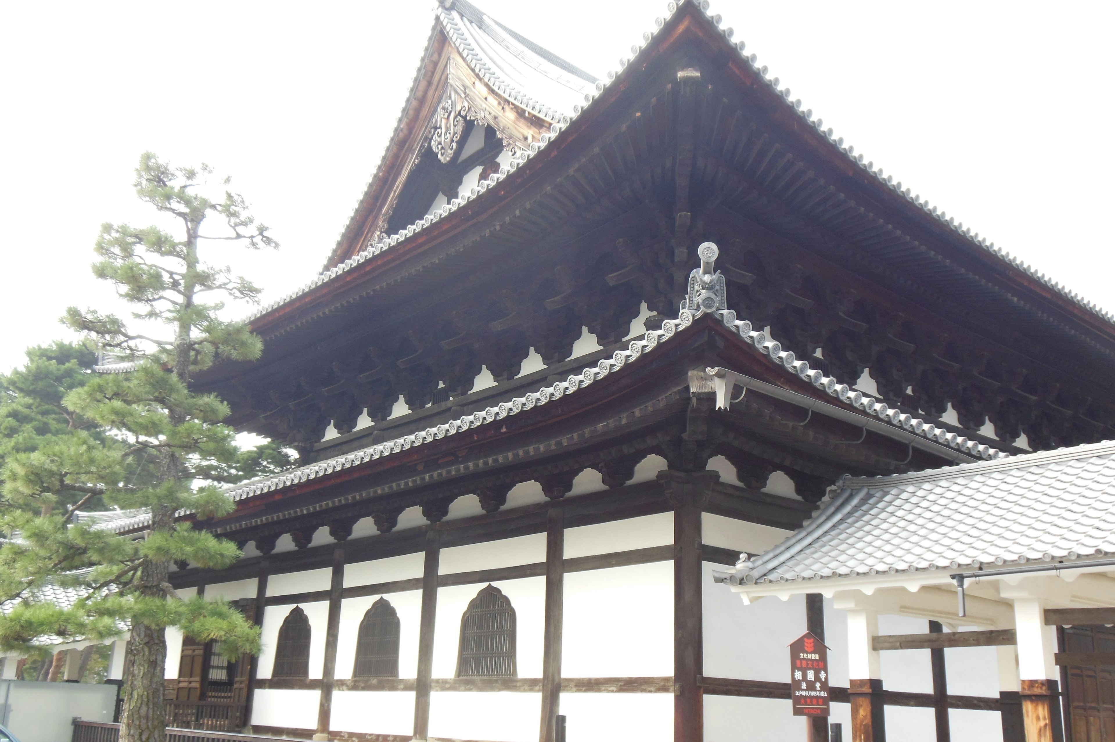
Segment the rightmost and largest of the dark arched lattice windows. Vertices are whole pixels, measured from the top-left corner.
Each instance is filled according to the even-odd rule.
[[[476,594],[460,619],[457,677],[516,677],[515,609],[498,588]]]

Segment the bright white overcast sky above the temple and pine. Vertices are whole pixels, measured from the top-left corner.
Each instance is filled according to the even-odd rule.
[[[601,77],[665,12],[660,0],[476,4]],[[379,161],[432,8],[0,6],[0,370],[28,345],[72,337],[57,324],[67,306],[115,301],[89,273],[91,247],[104,221],[152,221],[132,189],[145,150],[233,174],[282,242],[215,262],[265,287],[264,301],[304,283]],[[712,10],[857,153],[1115,309],[1111,3],[716,0]]]

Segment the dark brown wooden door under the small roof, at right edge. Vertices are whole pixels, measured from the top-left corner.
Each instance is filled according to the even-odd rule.
[[[1066,626],[1067,654],[1115,653],[1115,628]],[[1115,665],[1065,666],[1072,742],[1115,742]]]

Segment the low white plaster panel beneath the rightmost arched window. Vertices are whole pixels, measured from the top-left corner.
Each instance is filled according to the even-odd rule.
[[[540,693],[430,693],[429,735],[536,742],[541,714]]]

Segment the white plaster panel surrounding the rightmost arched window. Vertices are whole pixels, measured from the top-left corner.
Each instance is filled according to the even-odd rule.
[[[545,625],[546,579],[530,577],[493,582],[515,609],[516,666],[520,677],[542,676],[542,637]],[[434,624],[434,677],[454,677],[460,643],[460,617],[484,584],[457,585],[437,590],[437,618]],[[566,592],[568,596],[568,592]],[[568,673],[566,673],[568,674]],[[517,694],[512,694],[517,695]],[[434,734],[434,736],[442,736]],[[537,717],[535,717],[537,736]],[[465,738],[469,739],[469,738]],[[471,738],[489,740],[493,738]]]

